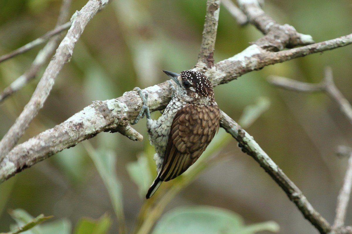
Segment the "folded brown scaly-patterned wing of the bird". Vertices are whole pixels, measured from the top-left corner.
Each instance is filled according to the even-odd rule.
[[[205,151],[219,129],[218,106],[188,105],[172,121],[159,178],[169,181],[185,172]]]

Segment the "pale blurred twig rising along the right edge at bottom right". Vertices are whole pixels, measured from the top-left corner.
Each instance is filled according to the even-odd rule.
[[[344,226],[346,212],[348,207],[348,201],[350,200],[352,187],[352,153],[348,159],[347,171],[344,179],[344,184],[339,192],[337,197],[337,206],[336,206],[336,216],[334,220],[333,229],[340,228]]]

